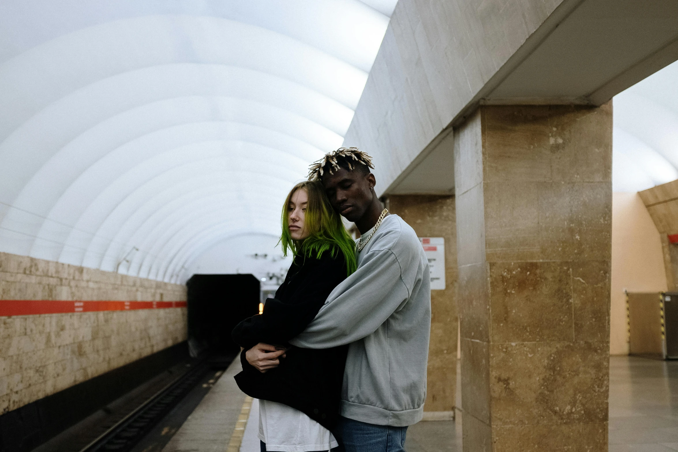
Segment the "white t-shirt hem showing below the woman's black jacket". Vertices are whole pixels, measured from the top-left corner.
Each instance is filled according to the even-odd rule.
[[[325,427],[299,410],[270,400],[259,400],[259,439],[266,451],[329,451],[338,446]]]

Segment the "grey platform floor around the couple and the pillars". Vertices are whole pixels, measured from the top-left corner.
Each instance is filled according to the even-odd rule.
[[[235,386],[235,360],[163,452],[259,452],[256,400],[238,426],[245,395]],[[242,419],[244,419],[243,417]],[[244,429],[234,450],[231,435]],[[407,430],[407,452],[461,452],[462,415],[456,421],[420,422]],[[231,447],[228,447],[229,444]],[[678,361],[612,356],[609,452],[678,451]]]

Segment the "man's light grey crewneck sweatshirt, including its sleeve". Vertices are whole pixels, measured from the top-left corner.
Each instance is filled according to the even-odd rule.
[[[303,333],[302,348],[348,347],[342,415],[369,424],[410,426],[422,418],[431,332],[428,260],[398,215],[382,220]]]

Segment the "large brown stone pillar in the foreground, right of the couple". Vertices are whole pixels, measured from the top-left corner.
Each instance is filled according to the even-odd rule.
[[[455,130],[464,451],[607,451],[612,104]]]

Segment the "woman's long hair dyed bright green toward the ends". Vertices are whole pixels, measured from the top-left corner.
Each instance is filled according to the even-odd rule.
[[[290,235],[287,207],[290,205],[292,195],[299,189],[305,190],[308,194],[304,224],[311,235],[304,240],[297,241]],[[319,180],[306,180],[296,184],[290,194],[287,194],[281,216],[283,233],[280,236],[280,243],[284,256],[288,251],[292,251],[294,258],[301,255],[318,259],[325,251],[329,251],[333,258],[337,253],[343,253],[344,260],[346,260],[346,274],[355,272],[357,269],[355,242],[346,232],[339,214],[332,209],[330,199],[327,199],[325,188]]]

